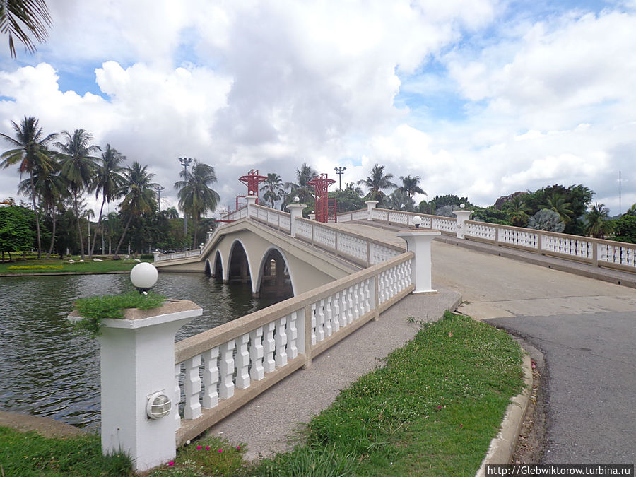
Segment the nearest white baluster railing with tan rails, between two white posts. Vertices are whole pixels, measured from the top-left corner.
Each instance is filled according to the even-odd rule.
[[[413,252],[175,345],[177,445],[341,341],[415,289]],[[179,384],[179,383],[183,384]]]

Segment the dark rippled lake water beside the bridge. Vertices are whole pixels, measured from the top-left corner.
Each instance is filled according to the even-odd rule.
[[[0,410],[98,428],[99,343],[76,334],[66,316],[78,298],[131,289],[127,273],[0,277]],[[252,298],[249,283],[223,284],[202,273],[160,273],[153,290],[204,309],[177,341],[281,300]]]

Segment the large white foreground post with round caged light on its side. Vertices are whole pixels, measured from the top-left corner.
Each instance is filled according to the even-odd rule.
[[[175,457],[175,334],[203,310],[187,300],[168,300],[152,310],[126,310],[124,319],[104,319],[100,336],[102,452],[127,452],[143,472]],[[70,319],[78,319],[75,312]],[[151,419],[148,398],[160,391],[170,414]]]

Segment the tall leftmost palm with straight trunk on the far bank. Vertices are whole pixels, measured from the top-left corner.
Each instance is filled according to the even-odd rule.
[[[4,4],[3,4],[4,5]],[[42,242],[40,240],[40,216],[37,213],[37,206],[35,205],[35,196],[37,192],[35,190],[35,181],[33,179],[33,173],[36,170],[40,170],[47,174],[54,170],[54,159],[51,158],[51,154],[47,149],[47,145],[57,134],[49,134],[46,137],[42,137],[42,128],[39,127],[37,119],[35,117],[24,117],[20,124],[11,121],[13,125],[13,131],[16,131],[16,139],[6,134],[1,134],[2,138],[10,143],[12,146],[16,146],[15,149],[6,151],[0,155],[2,162],[0,165],[6,169],[11,165],[19,164],[18,170],[20,171],[20,177],[23,173],[29,175],[29,189],[28,192],[31,196],[33,203],[33,211],[35,211],[35,232],[37,234],[37,258],[40,258],[42,253]]]

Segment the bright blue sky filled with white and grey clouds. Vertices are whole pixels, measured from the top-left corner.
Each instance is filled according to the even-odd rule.
[[[215,167],[219,209],[249,170],[295,182],[302,163],[418,176],[416,201],[584,184],[611,215],[636,202],[636,0],[47,3],[35,54],[0,35],[0,131],[86,129],[148,165],[161,208],[179,157]],[[0,199],[27,199],[18,179],[0,170]]]

